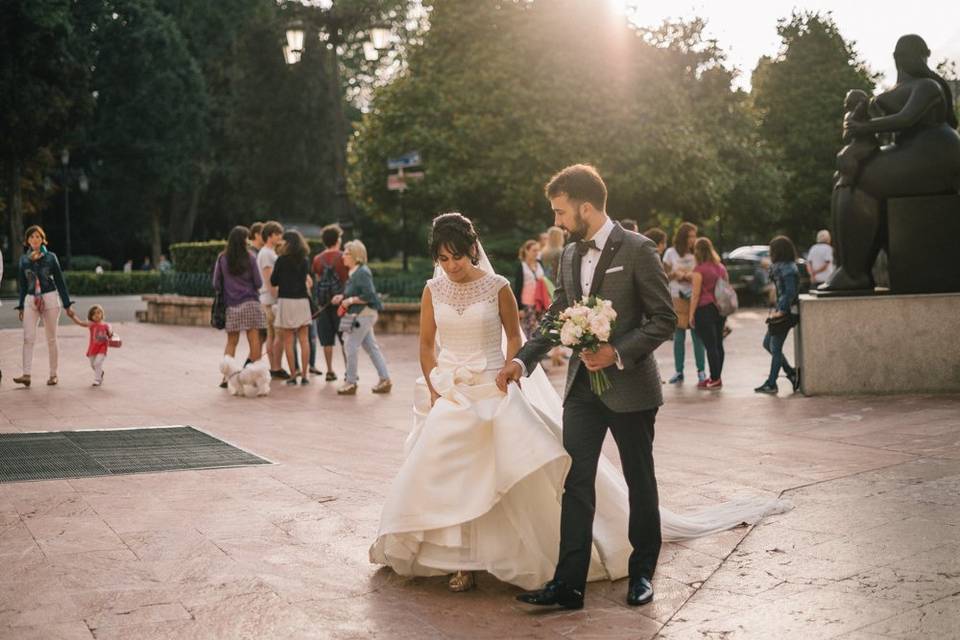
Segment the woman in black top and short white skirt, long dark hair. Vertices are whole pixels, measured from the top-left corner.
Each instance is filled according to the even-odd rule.
[[[309,327],[313,321],[310,312],[310,287],[313,285],[308,259],[310,246],[299,231],[287,231],[283,234],[279,249],[277,262],[270,274],[270,284],[277,296],[275,324],[280,330],[287,364],[290,365],[287,384],[297,384],[299,377],[300,384],[306,385],[310,384],[310,372],[306,367],[297,367],[293,342],[296,340],[300,343],[301,354],[310,353]]]

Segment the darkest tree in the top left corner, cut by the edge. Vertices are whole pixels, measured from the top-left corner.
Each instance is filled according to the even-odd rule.
[[[0,4],[0,165],[12,258],[22,250],[24,186],[31,188],[49,166],[50,147],[66,142],[89,113],[88,41],[69,0],[5,0]]]

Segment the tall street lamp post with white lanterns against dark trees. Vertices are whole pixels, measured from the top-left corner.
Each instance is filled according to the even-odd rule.
[[[320,40],[326,42],[330,52],[329,88],[327,98],[332,114],[333,129],[333,170],[335,180],[334,214],[337,221],[346,229],[353,229],[353,208],[347,193],[347,122],[343,111],[342,86],[340,84],[340,60],[338,48],[343,44],[343,30],[351,25],[345,24],[342,18],[334,15],[332,0],[321,0],[314,7],[318,13],[316,20]],[[300,62],[304,51],[304,26],[300,21],[292,23],[287,28],[287,44],[283,47],[283,57],[288,65]],[[364,43],[364,56],[367,60],[376,60],[379,51],[389,46],[390,30],[383,28],[370,29],[370,41]],[[369,45],[369,46],[368,46]],[[355,230],[354,230],[355,231]]]

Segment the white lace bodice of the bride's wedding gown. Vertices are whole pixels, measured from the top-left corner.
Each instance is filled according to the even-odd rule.
[[[486,371],[503,366],[503,331],[497,296],[509,283],[497,274],[466,284],[440,275],[427,282],[441,354],[459,362],[483,358]],[[443,360],[443,358],[441,358]]]

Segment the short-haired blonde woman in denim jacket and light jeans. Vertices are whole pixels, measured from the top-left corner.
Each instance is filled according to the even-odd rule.
[[[343,247],[343,263],[350,270],[350,277],[343,293],[333,297],[331,302],[340,305],[343,317],[340,330],[343,331],[344,348],[347,352],[346,384],[337,389],[340,395],[357,393],[357,359],[362,347],[377,369],[379,382],[373,387],[374,393],[389,393],[392,388],[387,363],[380,352],[380,346],[373,335],[373,326],[377,323],[377,312],[383,309],[383,303],[373,286],[373,273],[367,266],[367,248],[359,240],[351,240]]]

